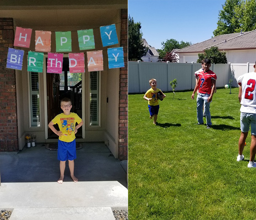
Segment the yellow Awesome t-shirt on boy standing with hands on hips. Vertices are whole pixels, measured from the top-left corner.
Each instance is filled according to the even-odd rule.
[[[54,124],[58,124],[59,130],[62,132],[62,136],[59,137],[60,141],[71,142],[75,139],[75,124],[76,122],[79,124],[82,119],[75,114],[74,112],[70,112],[69,115],[65,115],[63,113],[57,115],[52,122]]]

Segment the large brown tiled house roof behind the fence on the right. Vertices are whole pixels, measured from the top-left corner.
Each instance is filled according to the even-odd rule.
[[[196,43],[175,53],[202,53],[205,49],[217,46],[219,50],[256,49],[256,30],[242,33],[222,34],[217,37]]]

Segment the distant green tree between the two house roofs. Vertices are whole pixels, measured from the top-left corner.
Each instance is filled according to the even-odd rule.
[[[191,42],[178,42],[175,39],[167,39],[166,42],[162,42],[162,49],[158,50],[159,58],[164,59],[167,53],[170,53],[173,49],[182,49],[186,46],[191,45]]]

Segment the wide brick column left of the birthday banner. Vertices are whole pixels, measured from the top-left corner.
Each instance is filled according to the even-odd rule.
[[[12,18],[0,18],[0,152],[18,150],[15,70],[6,69],[8,47],[13,48]]]

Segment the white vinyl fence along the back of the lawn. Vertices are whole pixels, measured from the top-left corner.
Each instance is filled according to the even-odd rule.
[[[247,72],[253,72],[254,64],[212,64],[210,70],[217,75],[216,87],[224,87],[233,79],[232,86],[237,87],[236,79]],[[149,79],[157,80],[157,87],[162,91],[172,91],[170,81],[177,79],[175,90],[194,89],[194,72],[201,68],[197,63],[141,62],[128,61],[128,93],[144,93],[149,86]]]

